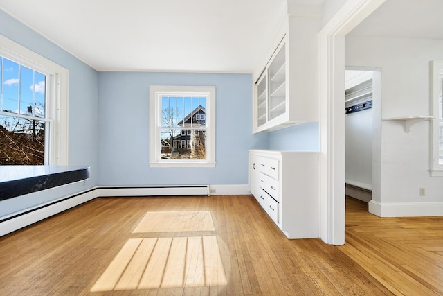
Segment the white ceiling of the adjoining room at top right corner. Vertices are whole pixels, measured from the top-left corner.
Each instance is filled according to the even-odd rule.
[[[350,35],[443,39],[443,0],[387,0]]]

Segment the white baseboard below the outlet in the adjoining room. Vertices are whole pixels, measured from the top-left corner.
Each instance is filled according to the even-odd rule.
[[[369,212],[379,217],[443,216],[443,202],[369,202]]]

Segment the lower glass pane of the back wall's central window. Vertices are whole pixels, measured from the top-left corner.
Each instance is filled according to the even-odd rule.
[[[160,134],[161,159],[206,159],[206,130],[162,128]]]

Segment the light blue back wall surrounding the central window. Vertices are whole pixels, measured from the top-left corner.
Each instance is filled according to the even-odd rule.
[[[215,168],[150,168],[150,85],[216,87]],[[248,149],[269,148],[251,104],[249,74],[100,72],[99,184],[248,184]]]

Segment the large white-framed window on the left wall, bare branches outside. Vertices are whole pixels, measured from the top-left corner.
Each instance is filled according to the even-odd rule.
[[[68,164],[68,71],[0,36],[0,165]]]

